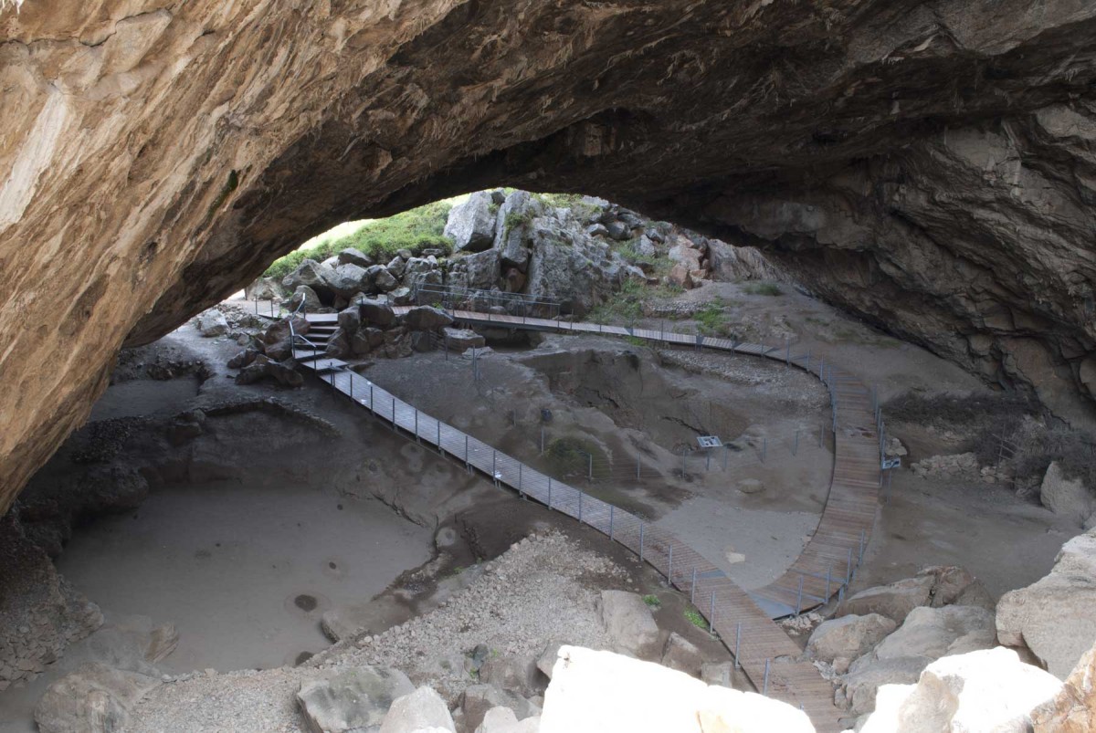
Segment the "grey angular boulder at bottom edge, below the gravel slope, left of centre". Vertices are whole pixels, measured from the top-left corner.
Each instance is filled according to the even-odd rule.
[[[310,731],[342,733],[376,730],[392,703],[414,691],[414,685],[399,669],[361,666],[306,679],[297,691],[297,702]]]

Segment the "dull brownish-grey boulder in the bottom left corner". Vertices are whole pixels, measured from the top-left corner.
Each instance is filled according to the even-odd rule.
[[[91,662],[46,688],[34,708],[42,733],[113,733],[129,711],[162,683],[149,675]]]

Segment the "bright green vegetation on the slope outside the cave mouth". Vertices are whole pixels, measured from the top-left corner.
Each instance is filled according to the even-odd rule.
[[[346,232],[340,227],[321,234],[296,252],[275,260],[266,268],[267,277],[285,277],[304,260],[322,262],[347,247],[353,247],[379,260],[391,259],[399,250],[420,253],[424,249],[453,251],[453,242],[442,231],[449,217],[453,201],[434,202],[387,219],[367,219]]]

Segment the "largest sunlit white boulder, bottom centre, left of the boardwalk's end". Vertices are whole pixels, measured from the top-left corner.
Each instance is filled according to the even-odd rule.
[[[540,733],[809,733],[789,705],[612,652],[563,646],[545,692]]]

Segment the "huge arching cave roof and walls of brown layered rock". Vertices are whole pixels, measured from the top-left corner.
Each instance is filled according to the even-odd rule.
[[[332,224],[489,185],[763,245],[1093,416],[1084,0],[26,0],[0,30],[0,508],[123,343]]]

